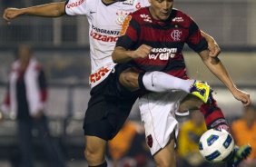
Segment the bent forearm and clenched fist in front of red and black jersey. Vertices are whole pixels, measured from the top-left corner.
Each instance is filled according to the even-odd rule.
[[[152,47],[146,44],[142,44],[134,51],[129,51],[121,46],[118,46],[113,50],[112,59],[114,63],[123,64],[132,59],[145,58],[148,56],[148,54],[150,54],[151,50]]]

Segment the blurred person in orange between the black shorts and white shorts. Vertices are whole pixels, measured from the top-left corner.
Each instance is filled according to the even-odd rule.
[[[145,143],[142,124],[130,120],[108,143],[108,152],[113,167],[149,167],[149,159],[152,159]]]

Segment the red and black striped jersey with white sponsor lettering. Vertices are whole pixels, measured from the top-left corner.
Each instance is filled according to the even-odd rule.
[[[192,18],[177,9],[162,22],[153,19],[149,7],[142,8],[126,17],[116,46],[135,50],[142,44],[153,47],[146,58],[129,62],[142,71],[162,71],[186,78],[186,66],[182,55],[184,44],[199,53],[208,44]]]

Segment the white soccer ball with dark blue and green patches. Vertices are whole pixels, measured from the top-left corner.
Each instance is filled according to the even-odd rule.
[[[233,152],[234,141],[225,130],[210,129],[202,134],[199,152],[208,162],[224,162]]]

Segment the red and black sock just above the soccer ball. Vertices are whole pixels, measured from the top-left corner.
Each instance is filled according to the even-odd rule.
[[[207,129],[217,128],[229,131],[227,120],[214,99],[212,99],[212,103],[203,103],[200,111],[204,116]]]

